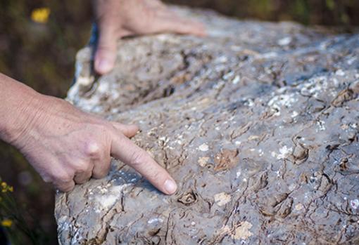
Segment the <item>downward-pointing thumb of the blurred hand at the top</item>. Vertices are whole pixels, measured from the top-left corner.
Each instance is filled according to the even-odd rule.
[[[116,61],[117,35],[108,27],[99,29],[99,43],[96,47],[94,68],[99,74],[111,72]]]

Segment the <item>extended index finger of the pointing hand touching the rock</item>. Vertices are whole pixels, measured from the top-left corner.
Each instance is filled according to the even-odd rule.
[[[149,153],[135,145],[124,135],[115,135],[113,137],[111,155],[132,166],[161,192],[173,194],[177,190],[175,180],[172,179],[170,174],[159,166]]]

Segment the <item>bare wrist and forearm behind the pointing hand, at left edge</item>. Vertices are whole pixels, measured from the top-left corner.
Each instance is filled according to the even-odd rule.
[[[0,139],[14,144],[42,106],[42,95],[0,73]]]

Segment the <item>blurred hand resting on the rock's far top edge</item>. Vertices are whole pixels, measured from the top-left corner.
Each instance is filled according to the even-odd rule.
[[[205,35],[199,22],[178,17],[159,0],[93,0],[99,42],[94,68],[99,74],[115,65],[117,41],[137,34],[173,32]]]

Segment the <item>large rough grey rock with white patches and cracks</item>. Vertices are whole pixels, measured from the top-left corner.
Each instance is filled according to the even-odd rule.
[[[179,190],[113,160],[57,194],[61,244],[358,242],[359,35],[177,11],[208,37],[122,40],[103,77],[84,48],[68,100],[139,124]]]

